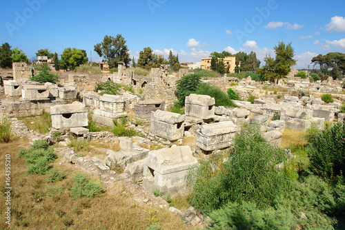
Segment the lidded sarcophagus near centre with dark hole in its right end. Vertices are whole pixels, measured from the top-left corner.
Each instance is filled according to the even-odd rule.
[[[151,133],[167,140],[183,138],[184,117],[181,114],[161,110],[151,112]]]

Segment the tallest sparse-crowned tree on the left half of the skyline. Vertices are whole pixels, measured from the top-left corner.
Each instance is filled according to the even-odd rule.
[[[99,56],[103,56],[103,61],[108,62],[110,69],[117,67],[118,62],[122,61],[128,66],[131,61],[126,40],[121,34],[117,34],[116,37],[106,35],[103,41],[97,43],[94,47],[95,52]]]

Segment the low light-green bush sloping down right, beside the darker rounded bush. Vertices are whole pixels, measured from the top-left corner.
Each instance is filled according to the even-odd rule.
[[[221,91],[219,87],[210,85],[210,83],[201,83],[195,94],[208,95],[215,98],[215,106],[237,107],[225,92]]]

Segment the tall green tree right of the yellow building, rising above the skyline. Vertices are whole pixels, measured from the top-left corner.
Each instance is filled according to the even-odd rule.
[[[290,68],[296,64],[295,50],[291,46],[291,43],[285,45],[284,42],[280,42],[279,45],[275,45],[275,74],[277,74],[277,83],[279,79],[282,79],[288,75]]]

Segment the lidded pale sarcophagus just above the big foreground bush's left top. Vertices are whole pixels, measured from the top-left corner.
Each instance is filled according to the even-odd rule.
[[[236,131],[237,125],[232,121],[202,125],[197,131],[197,147],[205,151],[229,147]]]

